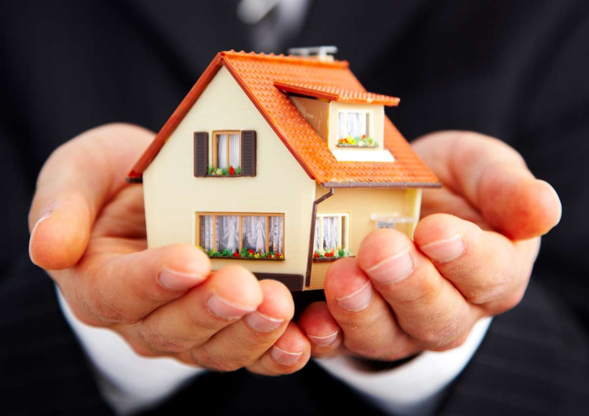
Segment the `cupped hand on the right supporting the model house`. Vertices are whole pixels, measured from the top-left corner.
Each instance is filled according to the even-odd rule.
[[[560,220],[554,189],[514,149],[481,134],[430,134],[413,148],[444,187],[424,190],[413,242],[375,230],[358,257],[332,265],[326,302],[299,319],[313,355],[395,360],[454,348],[478,319],[524,295],[540,236]]]

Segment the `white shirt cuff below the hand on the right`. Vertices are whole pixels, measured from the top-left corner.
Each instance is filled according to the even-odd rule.
[[[351,356],[317,359],[317,363],[384,411],[417,415],[435,411],[441,394],[460,374],[487,333],[491,318],[479,320],[458,348],[425,351],[406,364],[385,371],[368,371]]]

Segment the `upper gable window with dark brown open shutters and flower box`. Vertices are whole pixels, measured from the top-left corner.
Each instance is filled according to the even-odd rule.
[[[256,176],[256,131],[213,131],[211,143],[209,133],[195,132],[194,176]]]

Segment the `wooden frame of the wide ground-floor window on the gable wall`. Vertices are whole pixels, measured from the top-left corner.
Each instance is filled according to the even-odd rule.
[[[195,213],[195,241],[196,245],[200,247],[201,242],[201,217],[203,216],[212,216],[213,217],[213,251],[217,252],[219,247],[216,247],[217,243],[217,216],[237,216],[239,217],[239,249],[238,252],[240,253],[243,249],[243,217],[266,217],[266,251],[268,252],[269,245],[270,245],[270,217],[282,217],[282,258],[267,258],[267,257],[220,257],[220,256],[209,256],[211,259],[220,258],[220,259],[233,259],[233,260],[284,260],[286,255],[284,252],[286,251],[286,219],[284,218],[284,213],[269,213],[269,212],[196,212]],[[204,247],[203,247],[203,250]]]

